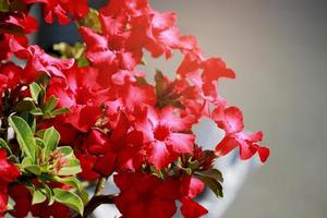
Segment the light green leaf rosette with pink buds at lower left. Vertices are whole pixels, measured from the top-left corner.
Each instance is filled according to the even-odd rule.
[[[35,92],[34,102],[38,99],[39,94]],[[52,98],[49,99],[45,108],[51,111],[56,105],[57,100]],[[39,181],[37,186],[28,181],[26,183],[32,194],[33,204],[45,201],[48,201],[49,204],[59,202],[83,214],[83,201],[77,194],[72,191],[52,189],[48,185],[49,182],[70,185],[85,199],[86,196],[81,187],[81,182],[75,177],[82,169],[72,147],[58,146],[60,134],[53,126],[38,131],[35,135],[34,129],[19,116],[11,116],[9,123],[15,132],[22,150],[22,162],[16,164],[16,166],[21,169],[23,178],[36,178]],[[0,145],[10,150],[5,141],[0,140]]]

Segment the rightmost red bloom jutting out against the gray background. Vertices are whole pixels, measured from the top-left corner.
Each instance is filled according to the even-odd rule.
[[[249,134],[243,132],[243,114],[240,109],[237,107],[216,108],[213,111],[213,119],[219,128],[226,131],[225,138],[216,146],[217,156],[225,156],[239,146],[241,159],[249,159],[258,153],[263,162],[267,160],[269,149],[257,145],[263,138],[263,133]]]

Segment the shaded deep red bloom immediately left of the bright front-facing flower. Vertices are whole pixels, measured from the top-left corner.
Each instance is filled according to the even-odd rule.
[[[128,118],[120,112],[118,122],[110,133],[105,134],[96,129],[88,133],[77,155],[82,168],[83,166],[86,168],[81,175],[93,178],[98,173],[108,177],[114,170],[138,169],[144,160],[142,146],[143,134],[131,129]],[[88,166],[84,165],[84,161],[88,162]]]

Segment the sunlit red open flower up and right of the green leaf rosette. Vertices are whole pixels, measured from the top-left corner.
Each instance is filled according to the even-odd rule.
[[[109,98],[109,89],[98,83],[99,72],[93,68],[74,66],[65,71],[63,78],[52,78],[48,96],[59,98],[58,107],[68,107],[71,112],[64,121],[75,129],[87,132],[101,116],[100,105]]]

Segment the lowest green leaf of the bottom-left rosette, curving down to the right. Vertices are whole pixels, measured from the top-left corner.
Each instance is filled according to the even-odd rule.
[[[61,189],[53,189],[55,201],[74,209],[80,215],[83,215],[84,205],[78,195]]]

